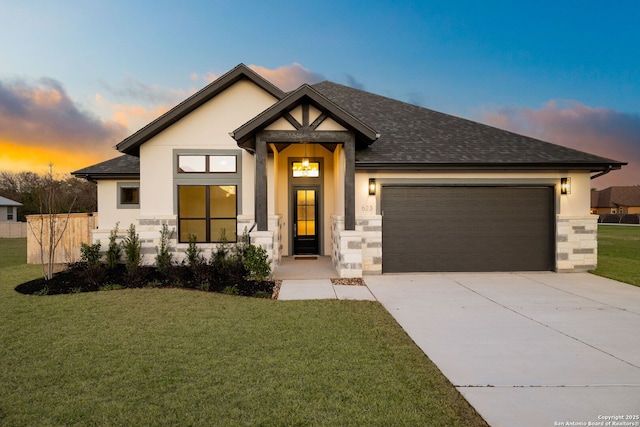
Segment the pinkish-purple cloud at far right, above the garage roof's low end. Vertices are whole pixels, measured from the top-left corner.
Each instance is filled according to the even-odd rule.
[[[640,184],[640,115],[593,108],[576,101],[552,100],[538,110],[485,108],[484,123],[555,144],[628,162],[593,181],[597,188]]]

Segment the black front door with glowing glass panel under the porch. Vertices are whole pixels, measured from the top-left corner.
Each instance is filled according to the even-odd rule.
[[[318,187],[293,188],[293,254],[318,254]]]

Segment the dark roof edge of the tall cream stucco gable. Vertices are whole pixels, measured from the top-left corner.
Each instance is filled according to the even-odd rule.
[[[162,116],[158,117],[147,126],[143,127],[133,135],[124,139],[116,149],[122,153],[133,156],[140,155],[140,145],[153,138],[172,124],[176,123],[192,111],[196,110],[206,102],[216,97],[236,82],[248,79],[258,87],[271,94],[276,99],[282,99],[285,93],[272,83],[268,82],[244,64],[240,64],[233,70],[216,79],[213,83],[205,86],[194,95],[187,98]]]

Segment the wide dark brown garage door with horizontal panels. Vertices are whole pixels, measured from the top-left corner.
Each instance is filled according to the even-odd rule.
[[[552,187],[382,187],[382,270],[548,271]]]

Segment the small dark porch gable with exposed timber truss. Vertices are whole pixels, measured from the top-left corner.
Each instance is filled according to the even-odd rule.
[[[312,123],[305,123],[304,120],[303,123],[300,123],[291,116],[294,109],[304,104],[313,105],[320,111],[320,116]],[[357,134],[357,140],[364,145],[371,144],[379,136],[371,126],[345,111],[308,84],[303,84],[295,91],[290,92],[286,97],[233,131],[232,135],[238,141],[238,146],[253,151],[255,149],[253,138],[255,133],[278,120],[285,119],[296,130],[315,131],[326,118],[331,118],[347,129],[353,129]]]

